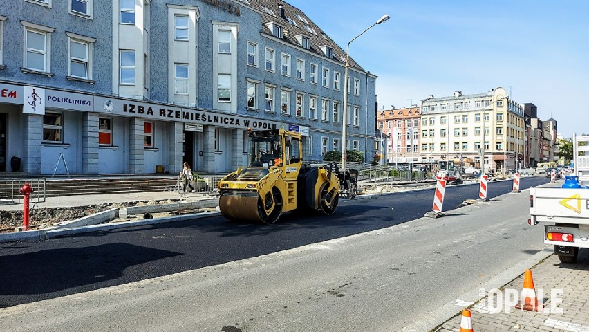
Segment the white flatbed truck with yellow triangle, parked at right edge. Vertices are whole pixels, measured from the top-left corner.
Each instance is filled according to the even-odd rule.
[[[572,136],[574,174],[563,187],[530,189],[530,225],[544,223],[544,243],[564,263],[589,248],[589,136]]]

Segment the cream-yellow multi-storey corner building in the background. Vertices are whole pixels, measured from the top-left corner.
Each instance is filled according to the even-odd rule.
[[[422,161],[454,160],[501,172],[523,160],[523,107],[499,87],[422,100]],[[484,150],[483,150],[484,149]],[[484,151],[484,153],[483,153]]]

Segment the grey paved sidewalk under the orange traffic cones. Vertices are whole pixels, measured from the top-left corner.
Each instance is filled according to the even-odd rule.
[[[489,291],[480,290],[482,299],[471,305],[473,330],[475,332],[490,331],[572,331],[589,332],[589,250],[581,249],[576,264],[565,264],[557,255],[550,255],[532,269],[536,296],[543,299],[542,312],[521,311],[513,305],[505,308],[506,290],[519,294],[523,287],[523,273],[512,282],[501,288],[503,304],[499,313],[489,313],[498,307],[498,298],[489,302]],[[540,294],[542,293],[542,294]],[[469,304],[463,304],[469,305]],[[456,306],[462,311],[463,306]],[[433,331],[460,331],[461,315],[438,326]]]

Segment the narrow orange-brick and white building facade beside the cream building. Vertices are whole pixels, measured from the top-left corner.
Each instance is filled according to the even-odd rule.
[[[386,146],[388,163],[422,163],[420,158],[420,107],[382,109],[378,125],[389,136]]]

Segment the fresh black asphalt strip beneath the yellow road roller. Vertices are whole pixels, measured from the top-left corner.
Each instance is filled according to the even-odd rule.
[[[521,189],[546,182],[540,177],[522,178]],[[511,190],[512,181],[490,182],[487,196],[492,199]],[[448,186],[443,211],[476,198],[478,185]],[[332,216],[285,214],[274,225],[234,223],[214,216],[35,243],[6,243],[0,250],[0,307],[137,282],[386,228],[422,217],[431,211],[432,203],[433,189],[430,189],[341,201]]]

